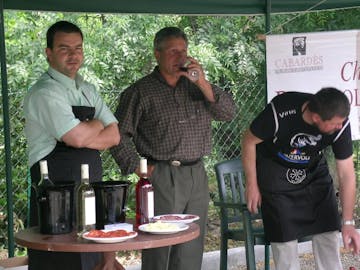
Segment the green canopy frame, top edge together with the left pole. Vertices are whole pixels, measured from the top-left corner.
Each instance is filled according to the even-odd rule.
[[[264,15],[266,33],[270,14],[359,7],[359,0],[0,0],[0,65],[4,120],[7,213],[13,213],[10,118],[6,71],[4,10],[40,10],[96,13],[140,13],[183,15]],[[9,257],[14,256],[13,216],[8,214]]]

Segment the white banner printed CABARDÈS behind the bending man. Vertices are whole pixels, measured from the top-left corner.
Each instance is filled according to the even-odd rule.
[[[266,37],[268,102],[287,91],[342,90],[351,103],[353,140],[360,139],[360,31]]]

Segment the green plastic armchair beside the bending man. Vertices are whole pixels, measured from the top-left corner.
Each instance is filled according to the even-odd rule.
[[[256,270],[255,245],[264,245],[265,270],[270,270],[270,243],[266,243],[261,214],[251,214],[244,195],[244,174],[240,159],[215,164],[221,216],[220,270],[227,269],[228,240],[245,242],[247,269]]]

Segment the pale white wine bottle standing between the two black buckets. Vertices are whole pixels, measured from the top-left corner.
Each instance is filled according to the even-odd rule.
[[[95,229],[95,191],[89,183],[89,165],[81,164],[81,183],[77,188],[78,234]]]

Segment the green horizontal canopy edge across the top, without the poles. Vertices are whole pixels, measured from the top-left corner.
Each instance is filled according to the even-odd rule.
[[[349,8],[358,0],[2,0],[5,9],[154,14],[265,14]]]

